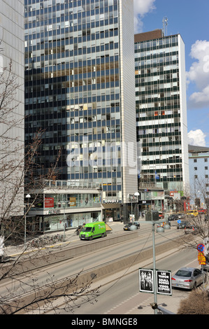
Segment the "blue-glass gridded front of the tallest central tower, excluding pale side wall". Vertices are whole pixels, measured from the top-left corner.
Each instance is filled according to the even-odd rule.
[[[44,130],[44,174],[103,183],[120,197],[118,0],[25,0],[26,143]],[[108,152],[107,152],[108,150]],[[108,155],[107,155],[108,154]]]

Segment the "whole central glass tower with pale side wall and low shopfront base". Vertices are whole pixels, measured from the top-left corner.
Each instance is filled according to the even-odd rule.
[[[71,218],[85,219],[83,207],[101,218],[102,203],[118,218],[137,191],[134,1],[24,2],[26,142],[45,129],[40,173],[62,150],[37,214],[50,219],[62,202]]]

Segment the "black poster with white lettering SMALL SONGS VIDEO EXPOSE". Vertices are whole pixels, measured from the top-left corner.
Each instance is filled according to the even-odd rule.
[[[156,271],[157,293],[172,295],[171,290],[171,271]]]

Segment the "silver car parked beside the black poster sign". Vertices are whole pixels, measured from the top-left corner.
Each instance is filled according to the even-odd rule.
[[[192,290],[206,282],[206,273],[194,267],[182,267],[172,276],[172,287]]]

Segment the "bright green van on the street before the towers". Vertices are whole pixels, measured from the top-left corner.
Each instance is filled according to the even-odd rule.
[[[94,222],[88,223],[80,231],[81,240],[92,240],[95,237],[106,237],[106,223],[104,222]]]

